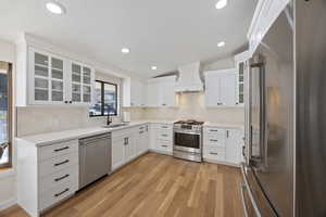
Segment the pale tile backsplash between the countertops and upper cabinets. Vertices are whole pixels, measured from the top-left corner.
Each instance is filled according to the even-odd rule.
[[[221,124],[243,124],[241,107],[208,108],[203,93],[179,95],[179,106],[175,108],[123,108],[130,112],[131,120],[139,119],[198,119]],[[17,137],[105,125],[106,117],[89,117],[88,107],[17,107]],[[121,116],[113,117],[121,122]]]

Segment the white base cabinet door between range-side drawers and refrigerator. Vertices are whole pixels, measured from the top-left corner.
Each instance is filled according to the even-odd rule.
[[[241,161],[241,130],[227,129],[225,144],[225,161],[239,164]]]

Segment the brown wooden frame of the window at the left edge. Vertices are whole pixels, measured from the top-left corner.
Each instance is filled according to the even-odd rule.
[[[12,77],[12,63],[1,62],[8,64],[7,75],[8,75],[8,163],[0,164],[0,168],[11,168],[12,167],[12,126],[13,126],[13,77]]]

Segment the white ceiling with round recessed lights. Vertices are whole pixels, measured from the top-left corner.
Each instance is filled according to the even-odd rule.
[[[146,77],[195,61],[211,62],[246,44],[255,0],[59,0],[64,15],[45,0],[2,0],[0,38],[26,31],[104,64]],[[224,40],[226,47],[217,48]],[[127,47],[129,54],[121,49]],[[150,67],[158,66],[158,72]]]

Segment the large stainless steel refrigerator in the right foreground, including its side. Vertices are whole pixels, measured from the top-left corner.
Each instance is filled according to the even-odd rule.
[[[326,0],[297,0],[246,72],[248,216],[326,216]]]

